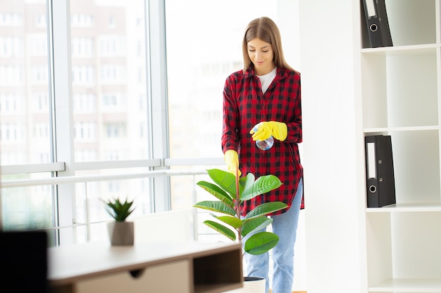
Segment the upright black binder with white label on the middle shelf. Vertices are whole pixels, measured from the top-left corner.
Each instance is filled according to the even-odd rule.
[[[390,136],[366,136],[366,197],[368,207],[395,204],[395,176]]]

